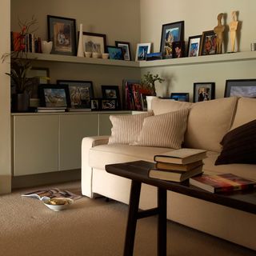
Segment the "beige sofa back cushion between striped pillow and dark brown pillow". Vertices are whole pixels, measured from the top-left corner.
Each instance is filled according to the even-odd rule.
[[[186,147],[220,152],[220,142],[230,130],[237,97],[194,103],[188,117]]]

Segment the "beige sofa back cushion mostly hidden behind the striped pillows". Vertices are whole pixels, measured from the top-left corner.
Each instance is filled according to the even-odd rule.
[[[193,103],[178,102],[170,99],[154,98],[151,103],[151,109],[154,114],[165,114],[168,112],[189,108]]]

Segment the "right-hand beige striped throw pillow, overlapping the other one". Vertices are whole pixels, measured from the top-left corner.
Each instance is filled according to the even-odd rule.
[[[145,118],[138,142],[134,145],[181,148],[189,110],[186,108]]]

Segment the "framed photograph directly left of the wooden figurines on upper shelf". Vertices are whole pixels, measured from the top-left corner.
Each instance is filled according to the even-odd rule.
[[[217,36],[214,30],[202,32],[200,55],[216,54],[216,39]]]

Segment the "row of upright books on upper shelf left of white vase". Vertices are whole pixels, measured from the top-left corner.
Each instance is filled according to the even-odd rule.
[[[42,39],[34,34],[22,35],[20,32],[11,31],[10,49],[12,51],[23,50],[28,53],[42,53]]]

